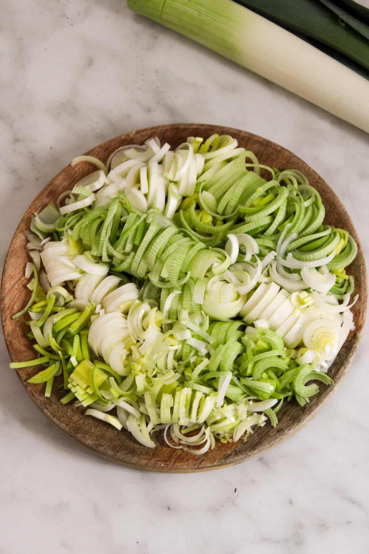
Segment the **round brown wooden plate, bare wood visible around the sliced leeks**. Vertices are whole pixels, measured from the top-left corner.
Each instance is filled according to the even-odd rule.
[[[124,429],[118,433],[111,425],[91,417],[85,417],[81,408],[76,408],[72,404],[67,404],[67,406],[60,404],[59,399],[64,396],[64,391],[53,392],[51,398],[45,398],[44,385],[27,383],[27,379],[35,372],[34,368],[17,371],[19,379],[30,397],[60,429],[92,452],[134,468],[173,473],[205,471],[240,463],[273,448],[301,429],[334,394],[350,366],[362,334],[367,304],[367,281],[363,252],[354,224],[340,199],[328,184],[292,152],[246,131],[216,125],[181,124],[160,125],[134,131],[104,142],[87,153],[106,162],[111,152],[119,146],[132,143],[142,144],[151,136],[158,136],[160,141],[167,141],[172,147],[175,147],[184,142],[188,136],[207,137],[213,133],[236,137],[240,146],[245,147],[246,150],[252,150],[263,164],[279,169],[295,168],[305,173],[310,183],[321,194],[326,208],[326,222],[349,230],[358,244],[358,254],[349,271],[355,277],[356,293],[360,295],[353,309],[356,328],[350,333],[330,368],[329,373],[334,378],[334,386],[326,387],[322,384],[320,394],[313,397],[304,408],[300,408],[294,401],[285,403],[278,414],[280,423],[276,429],[273,429],[268,423],[264,428],[257,429],[247,439],[247,442],[221,444],[217,441],[214,450],[202,456],[194,456],[169,448],[163,441],[162,433],[154,435],[154,440],[158,444],[157,448],[145,448]],[[79,152],[76,152],[76,155],[78,154]],[[1,291],[4,336],[12,361],[29,360],[35,355],[30,341],[25,336],[28,329],[24,324],[24,318],[16,321],[11,318],[12,314],[19,311],[29,298],[29,290],[25,287],[27,281],[24,279],[27,254],[23,231],[29,229],[30,219],[34,212],[40,211],[49,202],[55,202],[61,192],[71,189],[77,181],[95,169],[89,163],[65,167],[34,199],[14,233],[4,265]]]

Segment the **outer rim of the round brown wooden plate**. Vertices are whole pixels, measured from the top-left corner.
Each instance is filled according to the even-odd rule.
[[[58,398],[51,398],[48,399],[48,402],[45,402],[43,399],[43,393],[39,394],[40,389],[34,386],[29,386],[27,384],[27,378],[28,376],[25,375],[24,370],[17,370],[18,377],[20,381],[22,382],[23,386],[27,390],[27,392],[30,394],[30,397],[33,399],[35,404],[38,406],[38,408],[41,409],[41,411],[55,424],[57,427],[59,427],[61,430],[63,430],[67,435],[69,435],[71,438],[75,439],[79,444],[84,445],[86,448],[91,450],[92,452],[102,456],[103,458],[106,458],[110,461],[115,461],[119,464],[129,466],[136,469],[142,469],[142,470],[149,470],[149,471],[164,471],[164,472],[171,472],[171,473],[189,473],[193,471],[206,471],[211,469],[219,469],[222,467],[226,467],[229,465],[234,465],[237,463],[241,463],[242,461],[245,461],[246,459],[250,459],[255,455],[260,455],[267,450],[275,447],[277,444],[282,443],[284,440],[287,440],[292,434],[297,432],[299,429],[302,429],[313,417],[316,416],[318,411],[324,406],[327,399],[334,394],[334,392],[337,389],[338,384],[342,381],[344,376],[347,373],[347,370],[351,364],[352,358],[355,355],[355,352],[358,347],[358,342],[360,341],[360,337],[362,335],[363,331],[363,325],[365,322],[365,315],[366,315],[366,306],[367,306],[367,277],[366,277],[366,266],[365,266],[365,259],[363,257],[363,251],[360,243],[360,239],[358,238],[358,235],[356,233],[354,224],[352,223],[352,220],[347,214],[346,209],[340,199],[336,196],[336,194],[332,191],[332,189],[328,186],[328,184],[310,167],[308,166],[303,160],[301,160],[299,157],[295,156],[292,152],[287,150],[286,148],[283,148],[282,146],[278,145],[277,143],[273,141],[269,141],[268,139],[264,139],[263,137],[260,137],[258,135],[251,134],[246,131],[233,129],[231,127],[224,127],[224,126],[217,126],[217,125],[207,125],[207,124],[169,124],[169,125],[158,125],[153,127],[147,127],[145,129],[139,129],[137,131],[132,131],[127,134],[119,135],[115,137],[114,139],[110,139],[108,141],[105,141],[101,143],[101,145],[96,146],[95,148],[92,148],[90,151],[86,152],[89,155],[97,155],[100,152],[103,152],[103,158],[105,157],[105,161],[108,157],[108,155],[115,150],[117,145],[124,145],[131,142],[142,142],[142,140],[145,140],[145,138],[153,135],[157,135],[159,137],[161,136],[168,136],[168,135],[197,135],[197,136],[209,136],[210,134],[217,132],[219,134],[228,134],[228,135],[235,135],[237,137],[241,137],[241,140],[243,143],[245,142],[253,142],[257,145],[260,145],[261,148],[269,147],[273,150],[273,152],[282,153],[287,157],[293,159],[295,163],[299,166],[302,166],[305,168],[305,171],[309,174],[309,177],[313,177],[314,179],[314,186],[317,186],[319,192],[321,192],[320,188],[322,187],[325,189],[325,193],[330,195],[330,198],[332,199],[332,203],[334,204],[335,208],[337,208],[337,213],[343,214],[345,219],[345,227],[350,230],[350,233],[354,236],[357,244],[358,244],[358,254],[357,258],[355,260],[355,266],[359,266],[360,271],[356,271],[356,273],[359,273],[361,276],[360,280],[360,299],[357,302],[356,305],[356,312],[358,316],[360,316],[360,321],[356,321],[356,329],[353,333],[350,334],[349,339],[347,339],[347,345],[345,344],[344,347],[342,347],[340,355],[336,358],[336,361],[334,363],[334,366],[332,368],[335,368],[335,373],[337,373],[338,378],[335,379],[335,385],[333,387],[326,388],[324,392],[321,392],[318,397],[314,398],[313,402],[309,404],[308,408],[305,408],[305,412],[300,415],[299,420],[293,420],[292,423],[287,427],[287,429],[284,430],[284,432],[279,432],[279,426],[276,429],[269,428],[267,431],[263,429],[261,432],[267,433],[268,437],[259,437],[261,440],[258,442],[253,442],[252,448],[248,448],[248,444],[251,442],[250,439],[248,439],[247,443],[241,443],[236,445],[230,445],[230,444],[220,444],[217,442],[216,448],[212,453],[207,453],[204,456],[190,456],[185,453],[182,454],[183,463],[181,463],[181,459],[177,459],[176,463],[174,465],[170,465],[170,460],[168,461],[168,456],[165,456],[165,460],[162,461],[160,459],[157,459],[156,456],[152,456],[152,459],[146,459],[144,463],[140,461],[141,459],[146,458],[145,455],[141,456],[140,453],[142,452],[142,449],[144,447],[141,447],[141,445],[138,445],[136,448],[139,453],[137,455],[134,455],[133,457],[136,458],[134,461],[126,458],[124,458],[124,453],[122,454],[122,450],[119,451],[119,455],[117,455],[117,452],[115,453],[108,453],[106,452],[105,447],[101,444],[100,441],[97,443],[94,440],[91,440],[90,434],[85,433],[83,435],[80,435],[75,428],[71,427],[71,418],[66,417],[66,411],[65,406],[59,403],[60,396],[63,396],[63,394],[59,394]],[[136,137],[141,137],[141,139],[138,139]],[[144,137],[144,139],[142,139]],[[246,147],[246,146],[245,146]],[[263,163],[267,163],[265,160],[261,160]],[[292,167],[292,166],[291,166]],[[90,164],[83,163],[75,166],[74,168],[71,168],[70,165],[66,166],[63,170],[61,170],[58,175],[56,175],[51,181],[46,184],[46,186],[41,189],[37,197],[34,199],[32,204],[30,204],[30,207],[25,212],[24,216],[20,220],[17,229],[14,232],[11,244],[9,245],[6,261],[4,263],[3,267],[3,274],[2,274],[2,286],[1,286],[1,318],[2,318],[2,325],[3,325],[3,331],[4,331],[4,337],[6,341],[7,350],[9,352],[9,356],[11,357],[12,361],[19,361],[19,360],[25,360],[29,357],[25,356],[25,352],[22,355],[18,355],[15,352],[15,348],[13,346],[13,343],[11,342],[11,336],[12,333],[14,333],[14,322],[11,320],[11,315],[14,312],[14,310],[11,309],[11,306],[9,305],[8,299],[8,293],[9,290],[11,290],[11,283],[14,282],[14,269],[13,269],[13,250],[14,247],[19,248],[19,244],[25,245],[25,240],[23,239],[23,229],[29,226],[29,220],[32,216],[32,213],[36,211],[36,209],[40,206],[45,204],[45,199],[47,198],[47,201],[51,201],[51,199],[54,199],[55,201],[55,192],[54,189],[60,187],[60,182],[64,181],[65,183],[67,181],[70,181],[70,179],[73,179],[74,182],[79,180],[84,175],[87,175],[87,173],[90,173],[93,171],[93,168],[91,168]],[[319,183],[319,184],[318,184]],[[65,187],[63,187],[65,188]],[[60,189],[61,190],[61,189]],[[59,190],[59,192],[60,192]],[[49,198],[51,197],[51,198]],[[25,249],[23,246],[23,252],[19,254],[19,257],[23,257],[23,260],[25,260]],[[24,265],[24,264],[23,264]],[[19,273],[19,271],[18,271]],[[23,269],[20,271],[20,273],[23,273]],[[19,277],[18,275],[18,283],[22,284],[24,288],[25,280]],[[15,288],[17,288],[15,286]],[[22,294],[20,294],[22,295]],[[359,310],[360,307],[360,310]],[[345,352],[342,352],[344,350]],[[29,352],[33,352],[32,348],[29,349]],[[337,369],[338,368],[338,369]],[[27,372],[26,372],[27,373]],[[55,416],[55,413],[50,409],[50,406],[57,403],[58,407],[63,408],[63,411],[59,410],[58,413],[60,413],[60,418]],[[289,408],[292,408],[292,406],[289,406]],[[84,418],[85,420],[89,421],[89,424],[86,425],[86,427],[89,428],[89,430],[93,430],[95,433],[98,433],[98,425],[105,425],[101,422],[95,422],[95,420],[92,421],[92,418]],[[270,426],[269,426],[270,427]],[[115,431],[115,430],[114,430]],[[116,431],[115,431],[116,432]],[[117,433],[117,432],[116,432]],[[123,432],[124,433],[124,430]],[[107,433],[108,434],[108,433]],[[95,435],[94,435],[95,436]],[[119,434],[117,433],[117,436]],[[253,439],[254,435],[252,435],[251,439]],[[125,433],[124,440],[122,442],[122,448],[124,448],[124,442],[129,442],[132,440],[129,439],[128,433]],[[265,444],[264,444],[265,443]],[[131,445],[132,448],[132,445]],[[165,448],[165,447],[164,447]],[[166,447],[167,450],[168,447]],[[133,448],[134,450],[134,448]],[[145,449],[148,450],[148,449]],[[155,449],[156,450],[156,449]],[[222,452],[220,453],[220,450]],[[159,448],[160,453],[164,452],[163,447]],[[171,453],[177,454],[178,451],[170,450]],[[217,453],[219,455],[214,456],[213,454]],[[190,457],[189,457],[190,456]],[[175,456],[172,456],[173,458]]]

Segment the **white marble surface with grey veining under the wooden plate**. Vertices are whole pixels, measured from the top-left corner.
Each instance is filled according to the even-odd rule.
[[[368,135],[143,18],[124,0],[3,0],[1,262],[30,201],[72,157],[164,122],[247,129],[297,153],[368,240]],[[353,98],[355,91],[353,91]],[[139,473],[71,442],[1,342],[0,553],[366,554],[369,329],[344,384],[262,458]]]

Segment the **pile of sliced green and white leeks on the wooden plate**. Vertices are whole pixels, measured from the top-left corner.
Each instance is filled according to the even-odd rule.
[[[324,223],[301,172],[261,165],[227,135],[72,165],[86,161],[96,171],[25,233],[32,295],[13,317],[28,312],[39,357],[11,367],[44,365],[29,383],[46,397],[64,388],[61,403],[146,447],[163,429],[193,454],[275,427],[285,401],[332,383],[354,329],[357,246]]]

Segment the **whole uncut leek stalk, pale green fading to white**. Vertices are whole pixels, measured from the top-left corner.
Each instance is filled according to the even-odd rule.
[[[369,132],[369,83],[232,0],[128,0],[128,7]]]

